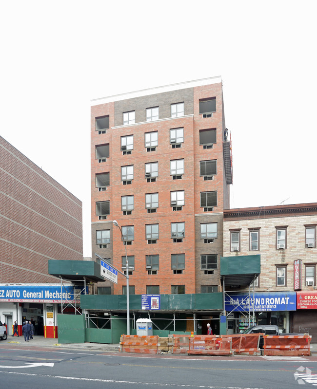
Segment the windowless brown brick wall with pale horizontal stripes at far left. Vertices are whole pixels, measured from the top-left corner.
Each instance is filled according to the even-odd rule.
[[[0,283],[56,282],[48,259],[83,259],[81,202],[1,137],[0,187]]]

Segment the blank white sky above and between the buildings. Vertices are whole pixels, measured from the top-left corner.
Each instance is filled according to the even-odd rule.
[[[317,1],[2,1],[0,134],[83,202],[90,100],[221,75],[231,207],[316,202]]]

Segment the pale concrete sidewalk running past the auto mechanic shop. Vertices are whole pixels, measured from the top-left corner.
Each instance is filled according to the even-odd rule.
[[[44,338],[44,336],[35,336],[34,339],[29,342],[24,342],[23,336],[8,336],[7,340],[0,341],[1,345],[12,345],[13,347],[52,347],[55,349],[65,350],[82,350],[85,352],[99,351],[99,352],[118,352],[119,344],[108,344],[108,343],[59,343],[58,339]],[[317,343],[311,345],[312,356],[317,356]]]

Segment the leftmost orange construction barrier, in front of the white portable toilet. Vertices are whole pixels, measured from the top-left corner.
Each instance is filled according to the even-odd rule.
[[[122,335],[120,352],[139,352],[143,354],[160,354],[158,335]]]

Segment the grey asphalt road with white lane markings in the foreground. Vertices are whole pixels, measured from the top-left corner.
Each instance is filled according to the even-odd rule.
[[[295,374],[295,375],[294,375]],[[290,389],[317,385],[317,361],[1,349],[1,387],[32,389]]]

